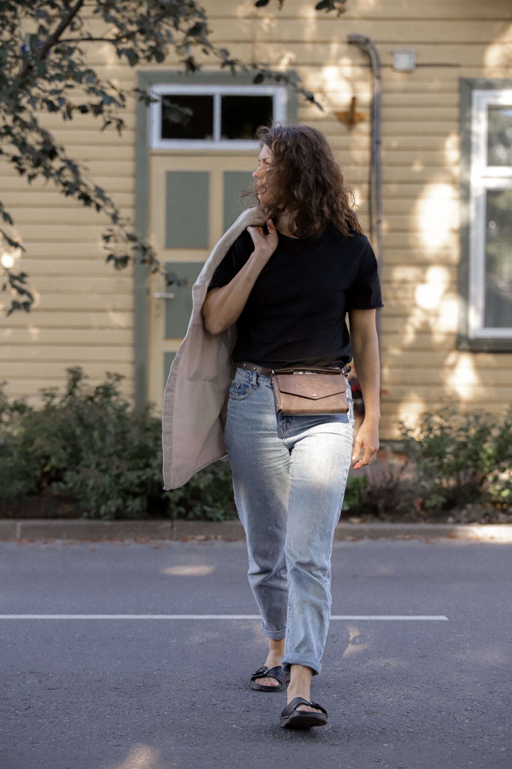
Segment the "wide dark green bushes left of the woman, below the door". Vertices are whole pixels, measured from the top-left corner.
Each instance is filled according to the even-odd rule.
[[[133,411],[119,392],[123,378],[107,374],[87,388],[80,367],[67,384],[41,390],[36,410],[24,398],[8,401],[0,383],[2,497],[58,494],[86,518],[236,517],[230,466],[216,462],[182,488],[164,491],[161,421],[150,407]]]

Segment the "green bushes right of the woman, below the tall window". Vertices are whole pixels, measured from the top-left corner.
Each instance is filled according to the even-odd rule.
[[[407,468],[391,464],[385,472],[370,468],[365,476],[349,477],[343,511],[387,520],[444,511],[483,519],[509,510],[512,408],[499,424],[489,414],[461,417],[456,408],[445,406],[422,414],[415,430],[401,427]]]

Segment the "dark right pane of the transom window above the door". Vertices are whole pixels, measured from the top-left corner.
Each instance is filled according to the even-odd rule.
[[[254,139],[259,125],[273,118],[272,96],[223,96],[220,102],[220,138]]]

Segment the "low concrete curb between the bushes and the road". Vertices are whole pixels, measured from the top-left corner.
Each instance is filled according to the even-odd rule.
[[[0,540],[245,539],[240,521],[89,521],[84,518],[0,520]],[[351,524],[335,529],[336,540],[449,538],[512,543],[512,524]]]

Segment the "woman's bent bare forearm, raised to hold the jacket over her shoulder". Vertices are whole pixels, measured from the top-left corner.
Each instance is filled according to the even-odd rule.
[[[239,318],[265,264],[266,260],[253,251],[243,268],[227,285],[206,294],[201,312],[210,334],[220,334]]]

